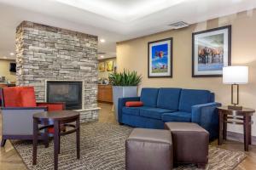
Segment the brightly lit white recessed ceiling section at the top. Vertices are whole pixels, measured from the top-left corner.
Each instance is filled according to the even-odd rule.
[[[128,23],[186,0],[55,0],[91,13]]]

